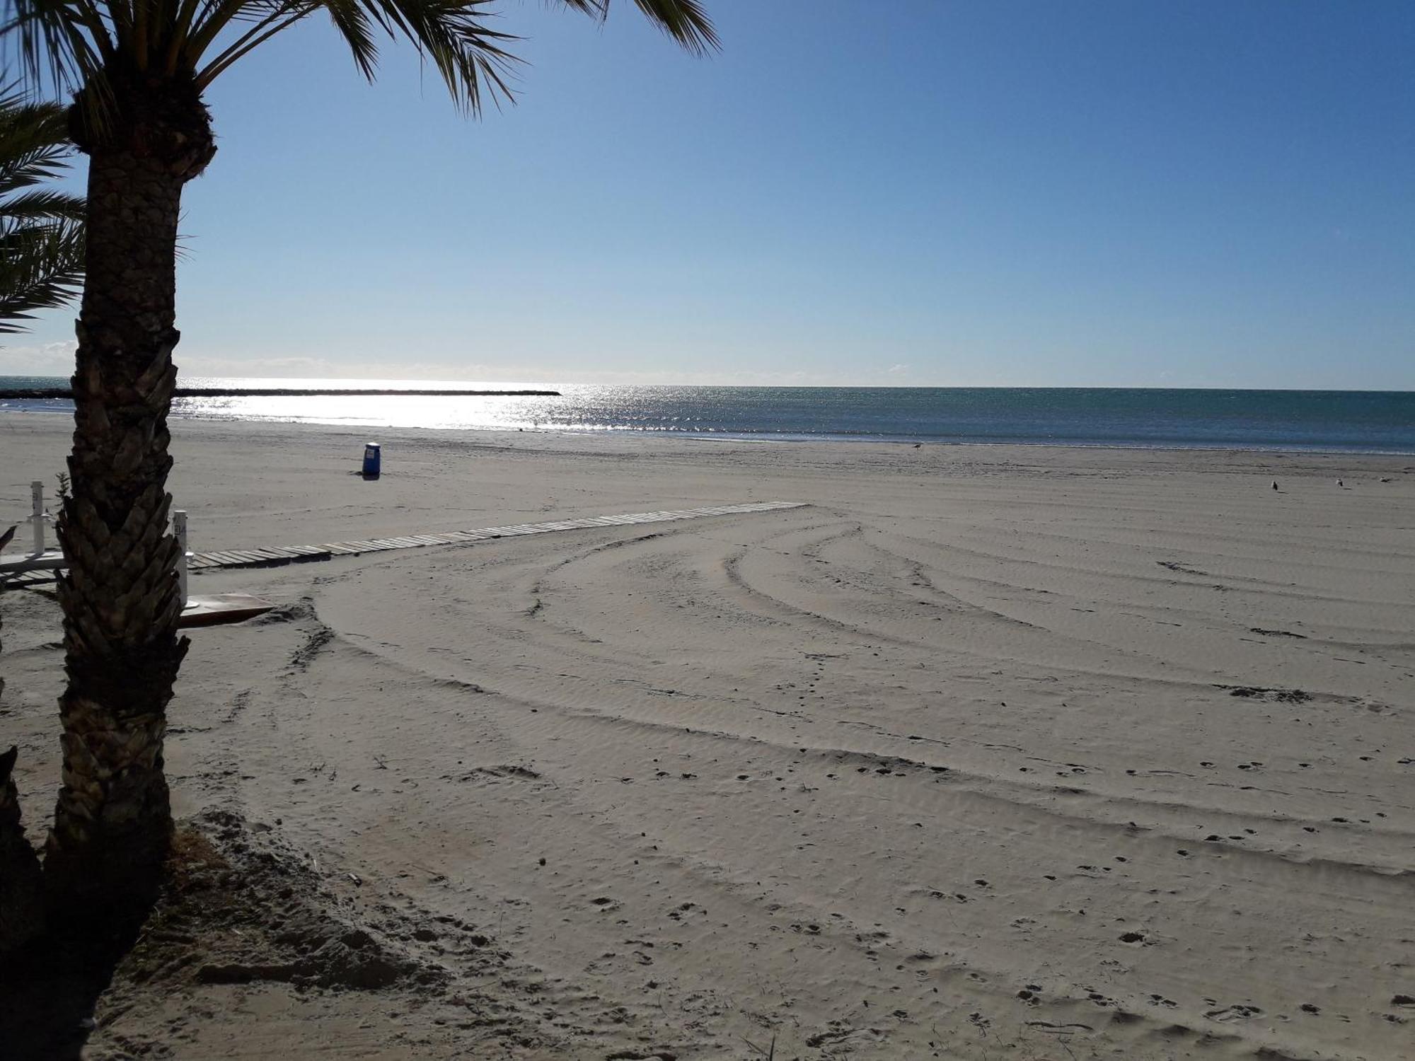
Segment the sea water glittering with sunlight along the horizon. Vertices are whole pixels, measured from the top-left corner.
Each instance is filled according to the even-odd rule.
[[[0,376],[0,388],[67,381]],[[541,388],[345,379],[184,378],[232,388]],[[652,431],[753,440],[1022,443],[1415,453],[1415,392],[1111,388],[785,388],[566,385],[560,398],[300,396],[178,399],[173,414],[366,427]],[[0,410],[67,413],[65,400]]]

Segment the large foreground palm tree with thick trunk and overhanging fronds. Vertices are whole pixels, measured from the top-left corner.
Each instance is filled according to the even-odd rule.
[[[608,0],[560,0],[603,18]],[[716,47],[699,0],[635,0],[689,51]],[[405,38],[464,110],[509,98],[512,38],[491,0],[6,0],[3,33],[34,83],[75,91],[89,157],[83,300],[74,373],[72,492],[58,533],[68,686],[64,785],[45,876],[67,898],[146,903],[171,835],[166,707],[177,637],[167,412],[177,369],[183,185],[216,151],[207,88],[282,30],[323,13],[374,76],[378,41]],[[68,903],[69,910],[75,904]]]

